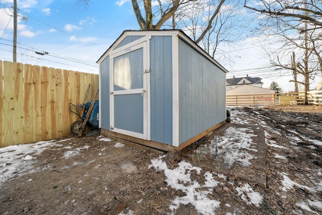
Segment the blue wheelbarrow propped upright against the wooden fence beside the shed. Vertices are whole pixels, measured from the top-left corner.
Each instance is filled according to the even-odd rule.
[[[94,102],[93,109],[91,109],[92,103]],[[74,105],[72,103],[69,103],[69,111],[79,116],[79,119],[77,121],[74,121],[70,126],[70,131],[75,134],[79,135],[83,128],[84,121],[88,117],[88,120],[85,123],[85,127],[83,131],[87,128],[91,130],[97,130],[99,129],[99,120],[98,120],[98,114],[99,114],[99,101],[91,101],[87,102],[83,105],[78,104]],[[83,132],[82,132],[83,133]]]

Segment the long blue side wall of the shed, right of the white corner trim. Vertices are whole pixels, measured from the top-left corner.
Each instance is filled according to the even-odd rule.
[[[179,39],[179,145],[226,118],[225,73]]]

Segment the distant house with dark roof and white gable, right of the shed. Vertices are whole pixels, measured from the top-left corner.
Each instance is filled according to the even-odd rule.
[[[242,85],[263,87],[263,82],[259,77],[252,78],[248,75],[243,78],[235,78],[235,76],[233,76],[232,79],[226,79],[226,90],[231,90]]]

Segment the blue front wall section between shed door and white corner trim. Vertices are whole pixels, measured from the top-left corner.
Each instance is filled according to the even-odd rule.
[[[150,40],[151,140],[172,145],[172,37]]]

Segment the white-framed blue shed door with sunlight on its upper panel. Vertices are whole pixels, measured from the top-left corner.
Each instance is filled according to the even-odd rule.
[[[111,131],[148,139],[146,42],[111,53]],[[104,107],[102,107],[104,108]]]

